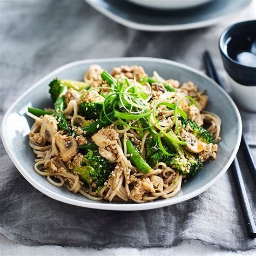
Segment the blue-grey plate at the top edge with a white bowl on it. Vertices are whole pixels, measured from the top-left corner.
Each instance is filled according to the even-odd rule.
[[[129,28],[174,31],[203,28],[244,9],[251,0],[85,0]]]

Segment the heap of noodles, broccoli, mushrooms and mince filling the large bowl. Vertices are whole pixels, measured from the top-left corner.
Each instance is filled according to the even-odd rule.
[[[175,196],[215,159],[220,118],[193,82],[148,76],[142,66],[110,74],[91,65],[84,81],[55,78],[51,109],[29,107],[35,171],[92,200],[144,203]]]

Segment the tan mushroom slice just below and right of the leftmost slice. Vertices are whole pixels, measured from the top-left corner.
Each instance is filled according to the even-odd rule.
[[[76,155],[78,143],[72,136],[66,137],[58,134],[55,137],[55,142],[59,148],[60,158],[62,158],[64,162],[71,160],[71,158]]]

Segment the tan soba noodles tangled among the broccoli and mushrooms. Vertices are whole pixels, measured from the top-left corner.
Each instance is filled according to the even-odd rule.
[[[158,77],[158,79],[160,79]],[[147,84],[147,87],[149,84]],[[194,90],[194,88],[192,88]],[[148,89],[148,90],[151,90]],[[190,94],[191,86],[184,86],[183,90],[187,91],[187,95]],[[158,93],[159,95],[156,98],[156,104],[160,102],[165,102],[166,100],[169,103],[176,103],[181,96],[181,90],[177,89],[177,92],[165,92]],[[185,109],[188,107],[188,102],[185,98],[180,100],[179,107]],[[68,120],[70,127],[76,129],[76,125],[82,125],[85,121],[84,117],[78,115],[79,106],[77,100],[70,100],[64,114]],[[157,116],[159,114],[159,116]],[[156,109],[156,116],[159,122],[159,125],[164,131],[174,129],[175,122],[173,118],[174,110],[168,109],[165,105],[159,105]],[[91,184],[87,184],[84,181],[79,179],[79,176],[76,173],[70,172],[68,166],[62,158],[60,157],[58,146],[56,145],[56,136],[58,134],[64,134],[65,132],[59,130],[53,137],[52,141],[49,144],[41,145],[36,142],[35,139],[40,136],[40,130],[43,122],[43,116],[37,117],[28,112],[28,116],[35,120],[35,123],[31,127],[30,136],[30,146],[33,152],[36,154],[35,160],[35,171],[41,175],[46,176],[50,184],[57,187],[65,186],[69,191],[73,193],[80,193],[82,196],[91,199],[91,200],[109,200],[109,201],[134,201],[136,203],[144,203],[147,201],[152,201],[157,198],[170,198],[175,196],[181,188],[181,182],[184,178],[184,175],[181,174],[178,170],[172,169],[170,166],[167,166],[166,163],[159,162],[149,173],[142,173],[134,166],[129,160],[129,154],[127,154],[126,141],[130,139],[134,145],[136,145],[140,154],[145,159],[146,149],[145,142],[151,137],[150,132],[144,130],[143,137],[140,136],[139,131],[133,129],[132,127],[125,126],[122,124],[111,124],[109,127],[114,129],[119,138],[123,138],[123,141],[118,139],[117,151],[118,157],[116,160],[116,166],[111,172],[109,179],[105,182],[104,186],[96,194],[94,188]],[[214,143],[218,142],[220,139],[220,118],[211,112],[203,111],[202,117],[204,123],[208,125],[207,131],[212,134]],[[154,124],[154,119],[151,117],[151,122]],[[132,122],[129,122],[129,125],[132,126]],[[119,127],[118,127],[119,126]],[[91,140],[91,138],[88,138]],[[57,159],[59,167],[55,171],[49,171],[49,165],[51,160]],[[157,176],[163,179],[163,189],[155,190],[154,192],[145,192],[141,199],[138,200],[134,196],[134,180],[139,180],[140,178],[150,178],[152,176]]]

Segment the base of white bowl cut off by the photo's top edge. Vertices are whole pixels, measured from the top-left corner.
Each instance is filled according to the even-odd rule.
[[[155,9],[186,9],[201,4],[205,4],[212,0],[129,0],[130,2]]]

